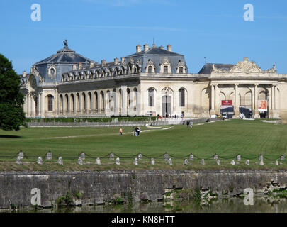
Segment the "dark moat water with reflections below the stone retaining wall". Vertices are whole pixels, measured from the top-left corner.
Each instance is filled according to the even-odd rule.
[[[254,197],[253,205],[242,198],[210,201],[171,201],[122,205],[62,207],[58,209],[18,209],[0,212],[16,213],[287,213],[286,199]]]

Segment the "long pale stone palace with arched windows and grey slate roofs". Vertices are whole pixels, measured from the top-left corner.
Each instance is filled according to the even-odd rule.
[[[97,63],[64,48],[21,75],[28,118],[96,116],[280,118],[287,109],[287,74],[262,70],[248,57],[232,64],[206,63],[188,72],[171,45],[140,45],[132,55]]]

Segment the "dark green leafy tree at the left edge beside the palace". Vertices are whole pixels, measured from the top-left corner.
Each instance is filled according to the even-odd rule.
[[[20,77],[13,70],[12,62],[0,54],[0,128],[5,131],[18,131],[20,126],[27,126],[20,87]]]

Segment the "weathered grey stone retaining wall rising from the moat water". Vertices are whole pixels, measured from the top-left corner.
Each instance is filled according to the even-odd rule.
[[[223,192],[242,194],[245,188],[262,192],[271,182],[285,187],[287,171],[0,172],[0,208],[31,206],[38,189],[38,206],[49,207],[67,192],[82,195],[74,196],[74,204],[103,204],[115,196],[133,201],[161,200],[165,190],[172,188],[209,189],[219,196]]]

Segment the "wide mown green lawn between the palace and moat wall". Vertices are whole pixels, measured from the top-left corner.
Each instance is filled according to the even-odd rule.
[[[132,135],[132,127],[119,128],[22,128],[21,131],[0,131],[0,170],[198,170],[198,169],[287,169],[287,161],[273,165],[280,155],[287,157],[287,126],[257,121],[218,121],[187,128],[186,126],[142,127],[139,137]],[[23,165],[16,165],[16,155],[23,150],[27,157]],[[53,160],[44,160],[48,150]],[[78,165],[77,157],[86,153],[86,162]],[[120,157],[121,165],[108,160],[109,153]],[[137,153],[143,160],[133,165]],[[174,165],[164,162],[164,153],[169,153]],[[184,165],[184,158],[193,153],[196,159]],[[218,154],[221,165],[213,160]],[[237,154],[242,161],[233,166]],[[264,166],[258,165],[258,156],[264,155]],[[10,157],[9,157],[10,156]],[[36,164],[37,157],[44,164]],[[64,165],[55,162],[62,156]],[[95,165],[101,157],[102,165]],[[150,157],[157,157],[150,165]],[[200,164],[200,159],[206,165]],[[250,165],[245,165],[245,160]]]

